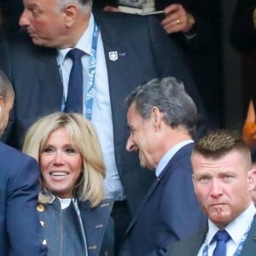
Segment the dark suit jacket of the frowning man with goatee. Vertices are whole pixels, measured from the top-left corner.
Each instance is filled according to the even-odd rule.
[[[207,228],[201,230],[198,234],[190,236],[188,239],[174,243],[168,249],[166,256],[196,256],[205,237]],[[256,219],[254,218],[251,229],[248,232],[247,239],[241,250],[241,256],[254,256],[256,252]]]

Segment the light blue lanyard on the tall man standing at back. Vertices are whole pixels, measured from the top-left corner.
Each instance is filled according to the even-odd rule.
[[[91,51],[90,51],[90,59],[89,59],[89,72],[88,72],[88,88],[86,96],[84,96],[84,109],[85,111],[85,117],[87,119],[91,119],[92,114],[92,106],[93,106],[93,99],[94,99],[94,86],[95,86],[95,74],[96,74],[96,49],[97,49],[97,43],[99,38],[99,26],[96,24],[96,21],[94,23],[93,28],[93,35],[92,35],[92,44],[91,44]],[[59,72],[61,74],[61,81],[63,84],[63,76],[61,72],[61,63],[59,58],[57,57]],[[84,86],[86,88],[86,86]],[[63,93],[62,96],[62,102],[61,102],[61,111],[64,111],[65,108],[65,96]]]

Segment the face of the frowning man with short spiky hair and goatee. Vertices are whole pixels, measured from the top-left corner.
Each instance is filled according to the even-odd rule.
[[[219,159],[192,155],[195,194],[204,212],[224,228],[251,202],[252,173],[243,154],[232,150]]]

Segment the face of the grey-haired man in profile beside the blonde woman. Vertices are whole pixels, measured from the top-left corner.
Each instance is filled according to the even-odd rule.
[[[140,165],[150,170],[157,166],[154,160],[154,126],[150,119],[143,119],[137,113],[135,103],[132,103],[127,112],[127,123],[130,128],[130,137],[126,143],[126,150],[138,151]]]

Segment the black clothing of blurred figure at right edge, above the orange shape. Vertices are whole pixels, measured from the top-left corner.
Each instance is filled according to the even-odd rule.
[[[241,101],[243,117],[256,102],[256,1],[237,0],[230,27],[230,43],[241,58]],[[252,107],[249,107],[252,109]]]

